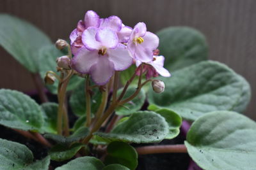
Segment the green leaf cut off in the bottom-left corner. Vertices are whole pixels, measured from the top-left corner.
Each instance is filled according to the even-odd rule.
[[[33,153],[25,145],[0,139],[0,146],[0,169],[48,169],[49,157],[33,162]]]

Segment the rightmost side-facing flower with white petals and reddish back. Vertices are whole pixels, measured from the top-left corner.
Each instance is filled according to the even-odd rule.
[[[136,60],[136,66],[140,66],[141,61]],[[164,77],[169,77],[171,74],[164,67],[164,57],[163,55],[156,56],[154,55],[153,60],[145,63],[143,66],[143,73],[146,73],[146,78],[149,79],[151,77],[157,77],[158,74]],[[136,74],[140,75],[140,67],[137,68]]]

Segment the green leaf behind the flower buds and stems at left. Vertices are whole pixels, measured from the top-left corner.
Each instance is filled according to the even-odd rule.
[[[40,70],[40,75],[43,79],[44,79],[45,73],[47,71],[56,72],[56,66],[57,66],[56,59],[63,55],[67,55],[67,54],[62,53],[60,50],[58,50],[55,47],[55,45],[44,46],[44,48],[42,48],[40,50],[40,52],[39,52],[39,62],[40,62],[39,70]],[[60,75],[60,73],[57,73],[57,74]],[[67,91],[76,89],[78,87],[78,85],[80,85],[82,83],[83,80],[84,80],[84,78],[81,78],[79,76],[76,76],[76,75],[72,76],[72,78],[70,78],[70,81],[68,82]],[[46,87],[53,94],[57,94],[58,80],[56,80],[56,82],[54,82],[53,85],[46,85]]]

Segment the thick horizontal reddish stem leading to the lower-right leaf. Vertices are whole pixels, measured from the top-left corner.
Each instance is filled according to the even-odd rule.
[[[188,153],[185,145],[141,146],[135,149],[139,155],[153,153]]]

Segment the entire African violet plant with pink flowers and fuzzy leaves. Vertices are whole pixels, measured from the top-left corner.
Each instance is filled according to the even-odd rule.
[[[188,152],[203,169],[256,167],[256,124],[239,114],[250,85],[207,60],[205,38],[195,29],[169,27],[158,38],[143,22],[131,28],[87,11],[70,44],[59,39],[57,49],[28,22],[10,15],[0,21],[1,46],[31,71],[42,99],[39,105],[1,89],[0,124],[49,148],[49,156],[34,160],[25,145],[0,139],[1,169],[48,169],[50,159],[72,159],[59,170],[136,169],[138,154],[166,152]],[[58,104],[45,102],[38,75]],[[139,111],[146,96],[148,111]],[[72,128],[67,99],[78,117]],[[131,146],[175,138],[182,118],[193,122],[184,145]]]

